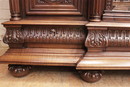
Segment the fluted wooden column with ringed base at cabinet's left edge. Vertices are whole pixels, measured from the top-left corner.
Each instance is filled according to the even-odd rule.
[[[20,0],[10,0],[10,12],[12,16],[10,20],[16,21],[21,19]]]

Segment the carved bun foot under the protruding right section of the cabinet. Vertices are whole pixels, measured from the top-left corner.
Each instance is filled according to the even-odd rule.
[[[89,83],[94,83],[102,78],[102,71],[79,71],[81,78]]]

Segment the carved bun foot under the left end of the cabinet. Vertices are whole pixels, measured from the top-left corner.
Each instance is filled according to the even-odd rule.
[[[10,73],[15,77],[22,77],[26,76],[30,73],[30,70],[32,69],[31,66],[27,65],[9,65],[8,66]]]

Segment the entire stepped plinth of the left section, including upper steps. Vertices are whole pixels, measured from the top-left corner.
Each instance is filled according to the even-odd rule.
[[[0,57],[0,63],[48,65],[48,66],[76,66],[83,56],[83,49],[46,49],[26,48],[10,49]]]

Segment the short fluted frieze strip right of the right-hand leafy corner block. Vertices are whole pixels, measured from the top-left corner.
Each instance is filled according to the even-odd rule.
[[[129,47],[130,31],[129,30],[108,30],[109,47]]]

